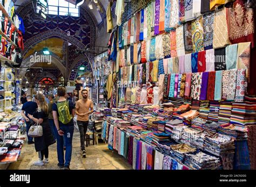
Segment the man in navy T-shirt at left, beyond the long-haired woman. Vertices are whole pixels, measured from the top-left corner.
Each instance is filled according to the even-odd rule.
[[[28,100],[28,102],[26,102],[22,105],[21,114],[22,114],[22,117],[25,119],[25,122],[26,122],[26,135],[28,136],[28,144],[32,144],[32,143],[34,143],[33,138],[28,135],[29,128],[30,128],[30,122],[31,122],[29,120],[28,114],[32,114],[33,112],[36,111],[37,103],[32,102],[32,97],[31,96],[27,96],[26,100]],[[25,111],[25,113],[24,113],[24,111]]]

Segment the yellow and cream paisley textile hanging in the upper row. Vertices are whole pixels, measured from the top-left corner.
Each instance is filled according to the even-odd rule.
[[[204,51],[203,16],[192,21],[193,52]]]

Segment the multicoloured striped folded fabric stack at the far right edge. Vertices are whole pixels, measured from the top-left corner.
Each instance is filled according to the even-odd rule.
[[[231,124],[256,124],[256,102],[232,103]]]

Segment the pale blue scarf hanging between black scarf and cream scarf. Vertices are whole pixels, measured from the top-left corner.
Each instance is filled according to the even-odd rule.
[[[237,49],[238,44],[229,45],[226,47],[226,68],[235,69],[237,68]]]

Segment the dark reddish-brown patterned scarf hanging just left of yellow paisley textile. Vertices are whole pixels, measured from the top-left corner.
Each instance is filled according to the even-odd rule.
[[[185,53],[190,54],[193,52],[193,41],[192,41],[192,25],[191,21],[184,24],[184,46]]]

